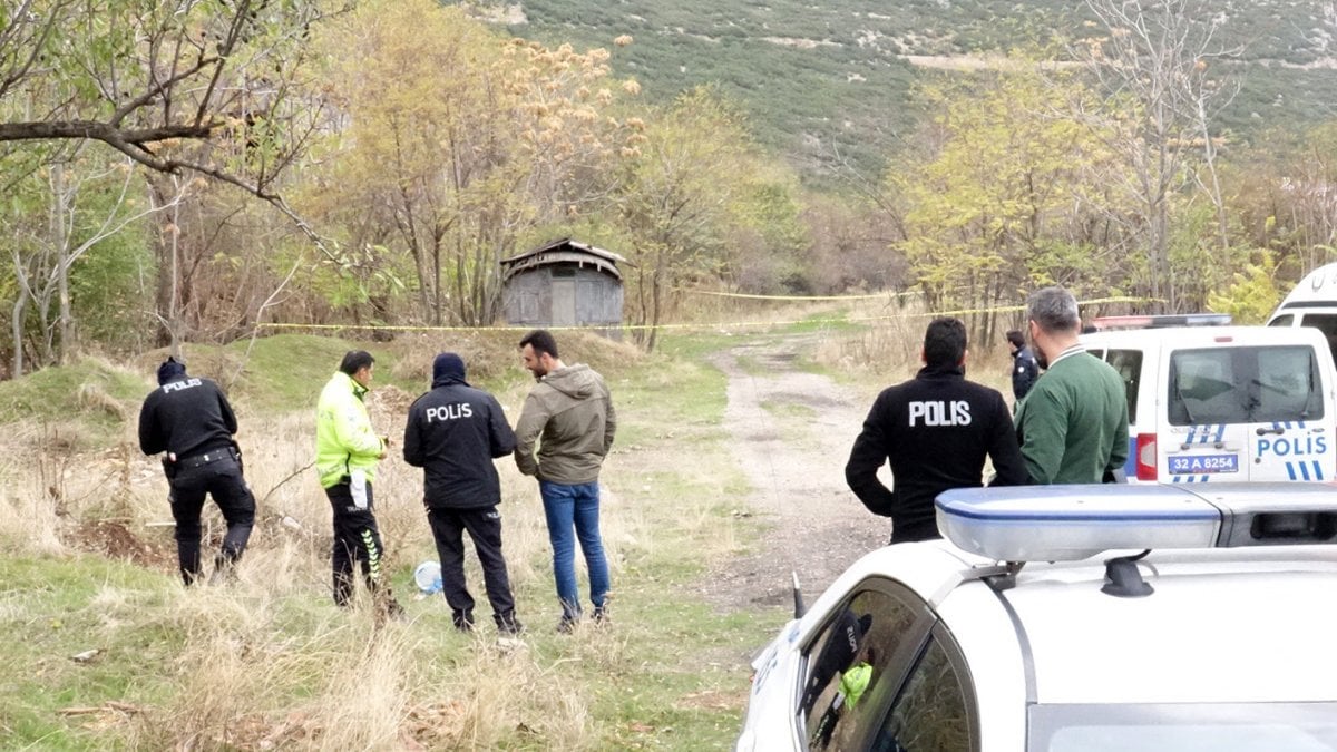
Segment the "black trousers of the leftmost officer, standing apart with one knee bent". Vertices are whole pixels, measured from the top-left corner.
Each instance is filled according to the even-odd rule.
[[[171,515],[176,521],[176,559],[180,577],[190,585],[199,579],[199,514],[205,496],[214,498],[227,521],[227,534],[215,558],[218,567],[233,565],[242,558],[251,527],[255,525],[255,496],[242,478],[242,468],[231,456],[223,456],[199,467],[176,470],[168,482]]]

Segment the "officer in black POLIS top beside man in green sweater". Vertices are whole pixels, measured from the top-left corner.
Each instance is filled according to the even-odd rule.
[[[935,318],[924,335],[924,368],[877,396],[845,464],[845,482],[873,514],[892,518],[892,543],[937,538],[933,499],[949,488],[1028,478],[1012,416],[996,389],[965,380],[965,325]],[[892,490],[877,479],[890,460]]]

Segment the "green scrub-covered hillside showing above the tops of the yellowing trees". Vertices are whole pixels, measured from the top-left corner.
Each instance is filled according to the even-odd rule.
[[[1257,138],[1313,123],[1337,104],[1337,5],[1330,0],[1210,0],[1190,5],[1218,25],[1219,78],[1238,79],[1219,127]],[[746,103],[763,143],[817,181],[841,159],[876,171],[925,115],[915,87],[976,70],[1015,48],[1072,60],[1107,33],[1084,3],[1062,0],[524,0],[513,33],[548,43],[635,44],[619,54],[652,99],[718,83]]]

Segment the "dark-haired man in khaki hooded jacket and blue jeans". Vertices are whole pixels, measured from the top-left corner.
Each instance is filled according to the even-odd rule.
[[[576,539],[590,570],[594,618],[603,621],[606,614],[608,562],[599,535],[599,467],[612,447],[616,416],[603,376],[584,364],[563,364],[550,332],[525,335],[520,356],[539,384],[524,400],[515,427],[515,463],[520,472],[539,479],[552,542],[552,574],[562,601],[558,630],[571,632],[580,618]]]

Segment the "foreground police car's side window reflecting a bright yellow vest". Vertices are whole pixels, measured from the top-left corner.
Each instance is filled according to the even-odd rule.
[[[928,633],[928,609],[906,594],[870,586],[836,612],[806,653],[798,713],[809,749],[849,749],[881,721],[905,666]]]

